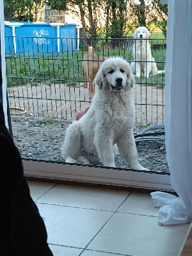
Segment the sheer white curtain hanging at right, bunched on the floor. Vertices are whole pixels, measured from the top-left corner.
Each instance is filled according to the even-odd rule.
[[[165,143],[173,189],[179,196],[151,193],[159,223],[192,220],[192,3],[168,1],[165,68]]]

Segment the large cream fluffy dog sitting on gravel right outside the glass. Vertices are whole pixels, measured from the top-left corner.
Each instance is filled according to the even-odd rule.
[[[119,150],[132,169],[148,170],[138,163],[133,136],[134,77],[129,63],[120,57],[108,58],[94,83],[98,88],[90,109],[67,128],[62,147],[65,162],[115,167]]]

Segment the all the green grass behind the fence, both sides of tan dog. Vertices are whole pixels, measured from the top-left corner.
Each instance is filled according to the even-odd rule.
[[[79,50],[72,55],[60,56],[13,56],[6,59],[6,77],[8,86],[30,86],[39,83],[65,83],[66,85],[75,85],[78,81],[84,81],[82,60],[86,51]],[[100,51],[95,49],[95,54],[106,57],[121,56],[129,63],[133,60],[132,51],[114,49],[111,51]],[[157,67],[159,70],[164,69],[165,49],[152,50]],[[162,83],[162,77],[157,76],[158,81],[154,78],[147,79],[145,83]],[[160,80],[159,80],[160,79]],[[143,82],[142,82],[143,83]]]

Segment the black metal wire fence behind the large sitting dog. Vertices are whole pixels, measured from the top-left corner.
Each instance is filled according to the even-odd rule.
[[[129,63],[134,61],[132,45],[137,39],[74,38],[76,40],[72,41],[71,38],[65,38],[66,45],[69,45],[68,40],[70,45],[78,44],[72,45],[70,49],[61,47],[59,51],[55,50],[54,45],[58,39],[63,40],[46,38],[49,45],[45,41],[44,45],[37,44],[36,51],[28,51],[23,45],[27,42],[30,47],[33,38],[15,37],[14,42],[24,50],[6,50],[6,77],[12,115],[74,119],[79,111],[90,106],[90,88],[84,88],[88,79],[84,77],[82,66],[83,56],[88,51],[86,45],[95,45],[97,56],[121,56]],[[166,39],[148,40],[158,70],[164,70]],[[13,37],[6,37],[7,49],[11,49],[12,42]],[[136,77],[134,100],[136,124],[163,124],[164,72],[148,78]]]

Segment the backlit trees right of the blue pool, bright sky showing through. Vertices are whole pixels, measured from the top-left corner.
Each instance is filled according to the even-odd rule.
[[[136,27],[150,24],[166,31],[167,6],[160,0],[46,0],[46,4],[79,17],[84,37],[124,38]],[[94,46],[95,40],[88,44]]]

